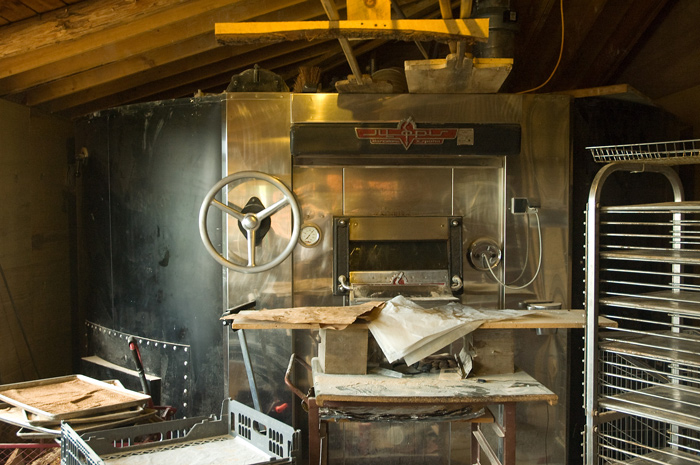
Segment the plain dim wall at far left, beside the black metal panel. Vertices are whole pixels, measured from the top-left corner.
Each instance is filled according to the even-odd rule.
[[[0,383],[72,372],[69,121],[0,100]]]

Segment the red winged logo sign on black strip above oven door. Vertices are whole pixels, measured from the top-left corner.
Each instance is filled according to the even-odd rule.
[[[394,128],[355,128],[358,139],[369,139],[373,145],[442,145],[448,139],[457,138],[457,128],[419,128],[413,118],[399,122]]]

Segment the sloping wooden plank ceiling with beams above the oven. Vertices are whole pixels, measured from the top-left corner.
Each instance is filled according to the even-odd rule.
[[[503,3],[503,2],[502,2]],[[507,3],[507,2],[505,2]],[[559,66],[537,92],[608,85],[673,0],[564,0]],[[438,0],[398,0],[412,19],[440,18]],[[454,1],[454,17],[459,1]],[[344,2],[337,6],[344,14]],[[538,87],[561,48],[558,0],[512,0],[514,68],[502,91]],[[326,19],[319,0],[4,0],[0,2],[0,98],[73,118],[128,103],[224,91],[255,64],[290,88],[301,66],[321,70],[324,90],[349,73],[336,40],[221,45],[217,22]],[[411,42],[352,42],[363,69],[422,59]],[[423,43],[431,58],[446,44]],[[372,68],[371,68],[372,67]]]

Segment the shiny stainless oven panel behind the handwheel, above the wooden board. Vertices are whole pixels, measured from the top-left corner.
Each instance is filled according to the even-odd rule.
[[[292,187],[289,153],[289,94],[228,94],[226,99],[227,173],[261,171]],[[243,207],[257,196],[265,206],[277,200],[278,193],[262,181],[247,181],[229,191],[228,200]],[[291,236],[290,210],[272,215],[271,230],[261,241],[257,257],[270,261],[279,254]],[[237,220],[227,218],[227,250],[246,256],[246,237]],[[258,308],[281,308],[292,304],[292,265],[288,258],[270,271],[241,274],[227,271],[228,306],[256,300]]]

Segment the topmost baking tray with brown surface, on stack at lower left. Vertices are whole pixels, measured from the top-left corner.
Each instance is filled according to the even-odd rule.
[[[42,400],[51,391],[61,402]],[[69,375],[0,386],[0,401],[41,415],[48,420],[68,420],[98,413],[144,407],[151,397],[103,381]]]

